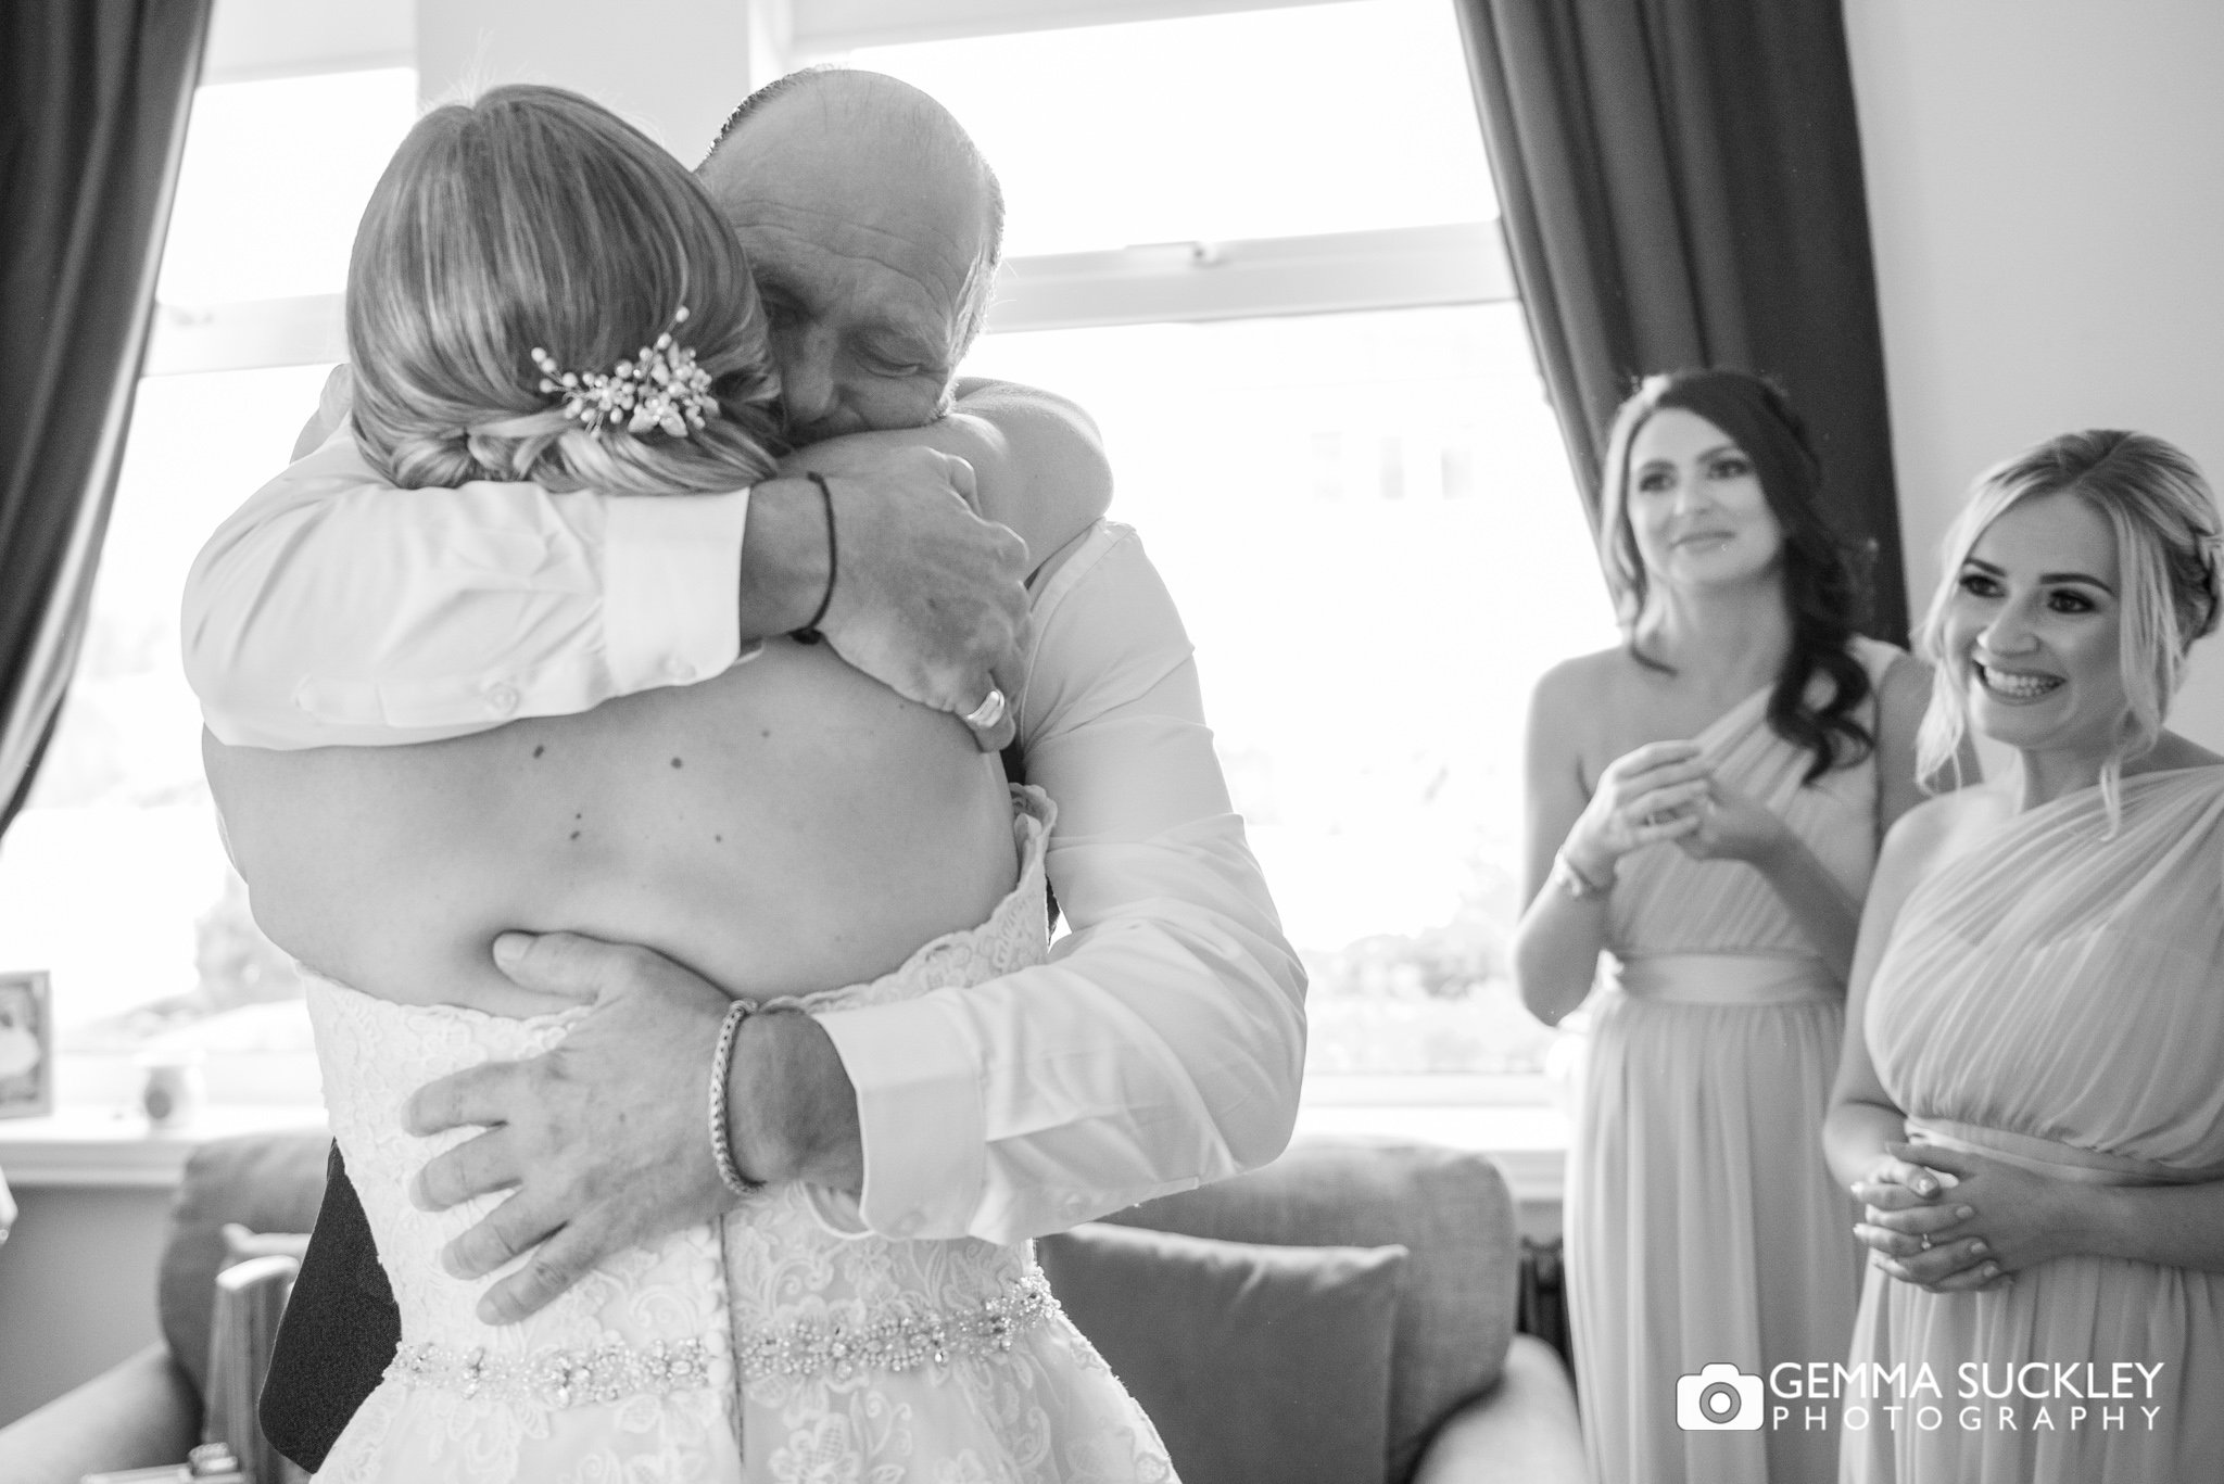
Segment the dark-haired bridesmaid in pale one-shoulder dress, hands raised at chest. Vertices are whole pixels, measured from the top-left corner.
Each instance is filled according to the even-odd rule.
[[[1648,378],[1606,456],[1626,643],[1559,665],[1530,703],[1521,997],[1559,1021],[1610,954],[1566,1208],[1606,1484],[1835,1471],[1824,1426],[1677,1426],[1677,1377],[1701,1366],[1844,1355],[1859,1290],[1821,1115],[1877,841],[1919,801],[1928,676],[1855,634],[1819,481],[1768,383]]]

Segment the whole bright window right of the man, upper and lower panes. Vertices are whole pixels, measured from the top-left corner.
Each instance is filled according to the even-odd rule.
[[[996,165],[1012,263],[965,369],[1105,432],[1312,968],[1308,1097],[1539,1072],[1506,961],[1523,712],[1615,630],[1450,7],[830,56],[934,93]]]

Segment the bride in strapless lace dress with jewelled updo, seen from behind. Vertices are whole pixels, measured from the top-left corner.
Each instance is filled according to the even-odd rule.
[[[669,156],[560,89],[418,122],[365,211],[347,336],[356,441],[396,485],[718,498],[772,469],[776,383],[741,249]],[[316,703],[409,705],[365,692]],[[538,1055],[585,1012],[494,968],[507,930],[701,972],[734,997],[721,1055],[747,1015],[1041,961],[1052,805],[1007,788],[959,721],[778,639],[576,716],[205,754],[256,921],[311,975],[334,1137],[400,1306],[400,1353],[318,1477],[1172,1477],[1027,1244],[885,1239],[854,1190],[756,1188],[492,1326],[476,1304],[503,1273],[458,1279],[438,1253],[496,1197],[409,1199],[463,1132],[403,1135],[407,1095]],[[672,1077],[703,1079],[703,1159],[747,1186],[725,1063]]]

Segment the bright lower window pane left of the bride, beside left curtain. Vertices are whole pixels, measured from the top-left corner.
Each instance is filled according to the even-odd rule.
[[[85,654],[0,841],[0,963],[51,970],[64,1052],[185,1026],[211,1050],[307,1050],[298,1006],[258,1008],[298,990],[227,888],[178,598],[209,532],[285,467],[329,369],[140,383]]]

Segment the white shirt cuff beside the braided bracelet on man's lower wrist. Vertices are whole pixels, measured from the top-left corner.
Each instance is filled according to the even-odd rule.
[[[865,1146],[858,1217],[883,1237],[963,1237],[987,1170],[981,1068],[934,997],[818,1015]]]

